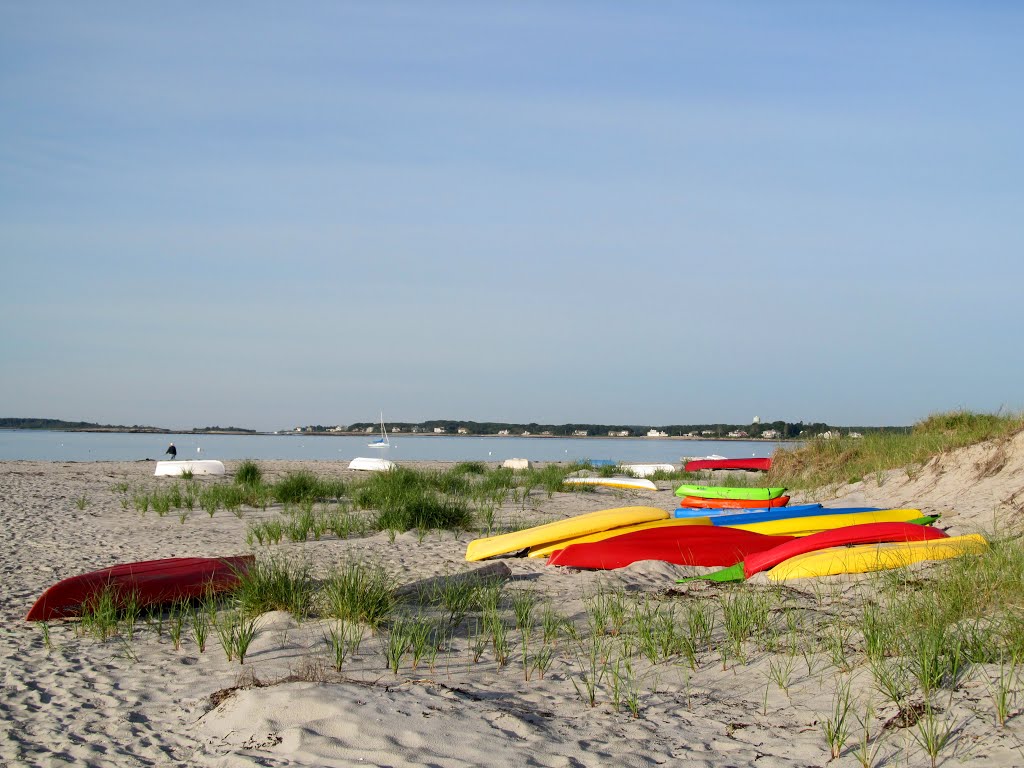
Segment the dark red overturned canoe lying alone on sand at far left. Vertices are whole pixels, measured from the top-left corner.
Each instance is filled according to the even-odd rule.
[[[138,605],[154,605],[210,592],[223,592],[239,584],[253,562],[252,555],[238,557],[171,557],[115,565],[65,579],[36,600],[28,622],[49,622],[82,614],[90,598],[110,587],[118,595],[134,595]]]

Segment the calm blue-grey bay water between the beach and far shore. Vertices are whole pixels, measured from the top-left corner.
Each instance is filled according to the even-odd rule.
[[[197,435],[0,430],[0,460],[137,461],[162,459],[169,442],[178,459],[296,459],[348,461],[380,456],[392,461],[574,461],[678,463],[684,456],[768,457],[779,443],[644,438],[470,437],[391,435],[391,447],[367,445],[375,435]]]

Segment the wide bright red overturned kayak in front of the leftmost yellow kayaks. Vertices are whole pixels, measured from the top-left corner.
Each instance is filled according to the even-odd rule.
[[[732,565],[793,539],[765,536],[714,525],[646,528],[600,542],[570,544],[548,558],[548,565],[610,570],[639,560],[663,560],[676,565]]]

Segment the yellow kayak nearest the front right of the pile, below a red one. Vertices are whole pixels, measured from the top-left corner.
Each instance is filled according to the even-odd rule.
[[[773,582],[782,582],[786,579],[838,573],[866,573],[869,570],[900,568],[922,560],[946,560],[961,555],[980,554],[986,549],[988,542],[978,534],[927,542],[833,547],[783,560],[768,571],[768,578]]]

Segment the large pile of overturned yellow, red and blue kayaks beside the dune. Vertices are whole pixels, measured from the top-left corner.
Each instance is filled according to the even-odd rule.
[[[767,496],[782,489],[703,488],[709,490]],[[547,557],[549,565],[593,569],[660,560],[723,567],[708,577],[715,581],[737,581],[762,571],[781,581],[894,568],[987,546],[979,536],[947,537],[931,527],[935,519],[916,509],[818,504],[749,510],[683,507],[674,515],[655,507],[622,507],[477,539],[470,542],[466,559],[525,554]]]

